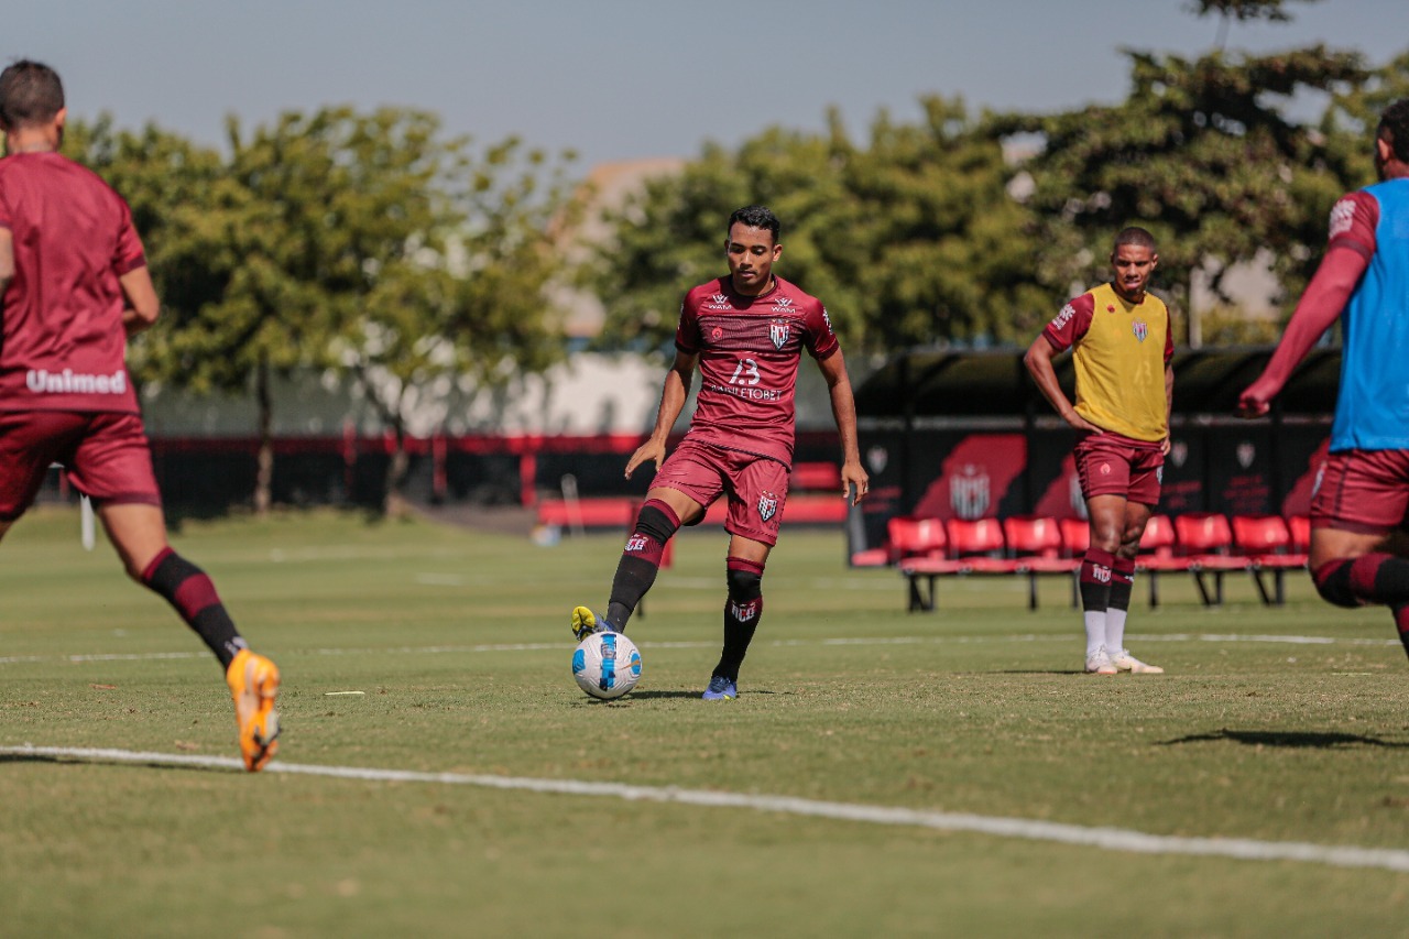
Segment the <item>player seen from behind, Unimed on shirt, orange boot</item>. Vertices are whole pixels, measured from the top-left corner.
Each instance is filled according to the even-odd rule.
[[[49,464],[90,496],[127,572],[161,594],[216,653],[249,771],[278,749],[279,670],[235,632],[210,578],[166,543],[127,336],[159,302],[123,197],[61,156],[63,86],[21,61],[0,72],[0,537]]]

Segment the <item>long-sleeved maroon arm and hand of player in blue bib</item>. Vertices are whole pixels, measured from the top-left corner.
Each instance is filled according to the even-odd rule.
[[[1340,316],[1368,266],[1370,258],[1354,248],[1337,245],[1326,252],[1267,368],[1239,396],[1239,417],[1261,417],[1271,409],[1272,399],[1281,393],[1292,369]]]

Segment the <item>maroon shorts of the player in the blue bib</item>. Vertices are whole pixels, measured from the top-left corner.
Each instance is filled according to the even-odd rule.
[[[1346,450],[1326,458],[1312,489],[1312,526],[1385,534],[1409,510],[1409,450]]]

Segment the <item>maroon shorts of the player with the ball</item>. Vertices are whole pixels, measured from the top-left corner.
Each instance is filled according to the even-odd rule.
[[[778,523],[788,501],[788,467],[776,460],[686,440],[661,464],[651,486],[676,489],[704,508],[727,493],[724,530],[778,544]]]

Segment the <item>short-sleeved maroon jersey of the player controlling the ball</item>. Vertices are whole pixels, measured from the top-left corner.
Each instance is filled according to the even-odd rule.
[[[817,297],[774,278],[762,296],[730,279],[692,289],[681,305],[675,347],[699,355],[700,392],[688,437],[792,464],[793,395],[802,350],[823,360],[840,344]]]

